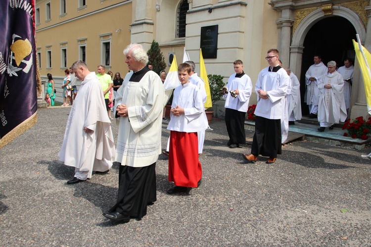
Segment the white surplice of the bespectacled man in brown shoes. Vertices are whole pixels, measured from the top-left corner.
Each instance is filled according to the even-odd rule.
[[[258,95],[255,115],[268,119],[281,119],[285,114],[285,96],[289,83],[290,77],[283,68],[277,72],[268,71],[268,67],[260,71],[255,84],[255,92]],[[259,98],[257,91],[260,89],[268,93],[268,99]]]

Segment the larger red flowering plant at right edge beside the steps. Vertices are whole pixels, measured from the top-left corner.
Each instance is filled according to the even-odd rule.
[[[348,133],[345,132],[344,136],[351,136],[353,139],[361,138],[362,140],[367,140],[368,135],[370,135],[371,117],[369,117],[367,122],[362,116],[357,117],[353,122],[350,122],[350,119],[348,119],[343,125],[343,130],[345,129]]]

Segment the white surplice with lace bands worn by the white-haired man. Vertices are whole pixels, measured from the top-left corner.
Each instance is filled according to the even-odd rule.
[[[129,117],[119,117],[116,161],[132,167],[149,166],[161,153],[164,87],[154,71],[139,82],[131,82],[129,72],[117,90],[116,106],[125,104]]]

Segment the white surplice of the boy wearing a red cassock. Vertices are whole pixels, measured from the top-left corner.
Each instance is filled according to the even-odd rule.
[[[180,108],[184,108],[184,114],[179,116],[170,114],[168,130],[186,133],[206,130],[207,118],[202,96],[195,85],[186,83],[174,89],[171,108],[175,108],[178,105]]]

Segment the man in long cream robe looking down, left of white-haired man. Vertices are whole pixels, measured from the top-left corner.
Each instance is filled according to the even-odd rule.
[[[68,116],[58,155],[65,165],[75,167],[75,176],[67,184],[76,184],[91,178],[93,171],[108,171],[115,156],[115,145],[95,73],[81,60],[71,68],[80,79],[81,87]]]

